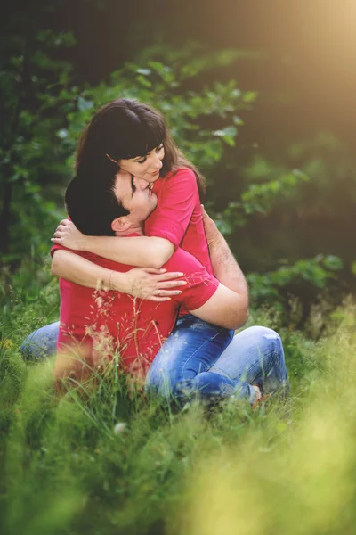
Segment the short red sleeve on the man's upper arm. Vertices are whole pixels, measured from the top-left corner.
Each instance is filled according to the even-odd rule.
[[[205,305],[219,286],[219,281],[210,275],[195,257],[180,248],[166,262],[165,268],[168,271],[184,273],[182,280],[186,280],[188,284],[180,287],[182,293],[174,299],[186,310],[195,310]]]

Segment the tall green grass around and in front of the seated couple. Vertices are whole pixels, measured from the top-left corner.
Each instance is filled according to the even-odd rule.
[[[51,292],[39,296],[41,317],[53,310]],[[281,330],[287,403],[271,399],[253,411],[227,401],[209,413],[134,395],[115,368],[94,391],[55,394],[53,361],[28,365],[17,352],[39,322],[36,307],[18,301],[20,327],[11,315],[4,325],[1,533],[356,533],[352,300],[328,317],[318,341]],[[251,322],[279,329],[271,312]]]

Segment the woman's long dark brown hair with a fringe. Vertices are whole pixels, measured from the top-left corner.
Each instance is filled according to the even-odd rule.
[[[145,156],[161,143],[165,145],[165,157],[160,176],[182,167],[192,169],[202,198],[205,179],[174,144],[162,114],[147,104],[126,98],[102,106],[85,128],[77,148],[77,176],[96,180],[114,176],[117,161]]]

